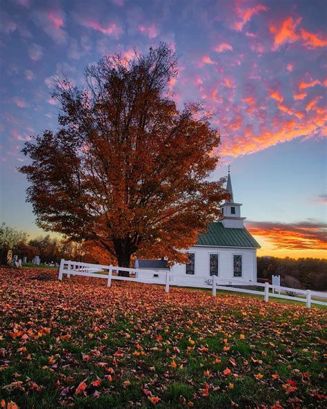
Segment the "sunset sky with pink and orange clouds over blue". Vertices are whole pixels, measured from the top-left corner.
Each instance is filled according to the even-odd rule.
[[[327,257],[326,0],[36,1],[0,6],[1,215],[44,234],[16,167],[29,135],[57,129],[57,75],[81,84],[106,53],[148,53],[160,41],[179,58],[170,82],[179,107],[216,111],[221,166],[259,255]]]

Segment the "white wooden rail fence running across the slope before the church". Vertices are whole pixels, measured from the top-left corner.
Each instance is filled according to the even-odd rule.
[[[118,276],[119,271],[129,272],[130,277]],[[163,272],[155,269],[114,267],[112,265],[79,263],[77,261],[68,261],[62,259],[59,267],[59,280],[63,279],[64,274],[66,274],[67,278],[70,278],[70,276],[103,278],[107,280],[108,287],[111,286],[112,280],[134,281],[137,283],[165,285],[166,292],[169,292],[170,285],[174,285],[177,287],[209,288],[212,289],[212,296],[216,296],[217,289],[221,289],[224,291],[263,296],[264,301],[266,302],[269,301],[269,298],[284,298],[286,300],[306,303],[306,307],[308,308],[311,307],[311,304],[327,306],[327,302],[315,299],[327,298],[327,293],[324,292],[315,292],[311,291],[310,289],[282,287],[277,285],[270,285],[268,283],[257,283],[255,281],[244,280],[241,278],[219,278],[217,276],[199,275],[185,276],[182,274],[171,274],[168,270]],[[144,278],[144,275],[146,275],[146,278]],[[263,291],[260,291],[259,289],[239,287],[262,287]],[[271,292],[270,289],[272,290]],[[276,292],[278,292],[279,294],[276,294]],[[290,293],[295,293],[296,296],[287,295]]]

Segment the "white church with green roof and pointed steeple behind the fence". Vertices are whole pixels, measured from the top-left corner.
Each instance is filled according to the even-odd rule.
[[[221,205],[223,217],[217,222],[211,222],[205,234],[199,236],[197,244],[186,250],[189,263],[175,264],[170,267],[170,276],[179,275],[179,282],[185,284],[188,278],[195,276],[208,278],[234,278],[238,280],[257,281],[257,249],[259,243],[244,227],[244,217],[241,217],[241,203],[235,203],[232,193],[232,181],[228,171],[226,189],[230,200]],[[167,270],[167,260],[135,260],[135,267],[140,269]],[[140,275],[139,275],[140,276]],[[144,274],[144,278],[148,276]]]

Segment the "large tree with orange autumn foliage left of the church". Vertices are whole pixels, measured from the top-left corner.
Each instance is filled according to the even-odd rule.
[[[59,130],[26,143],[21,167],[37,225],[108,251],[184,261],[181,249],[220,216],[224,180],[210,181],[220,136],[201,102],[178,110],[177,59],[166,44],[86,68],[83,88],[57,84]]]

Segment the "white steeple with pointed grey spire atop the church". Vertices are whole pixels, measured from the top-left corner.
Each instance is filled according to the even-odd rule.
[[[226,191],[228,191],[230,198],[229,200],[225,200],[224,205],[221,205],[221,213],[223,213],[221,223],[227,229],[243,229],[245,218],[241,217],[241,203],[234,202],[232,180],[230,178],[230,166],[228,166]]]

